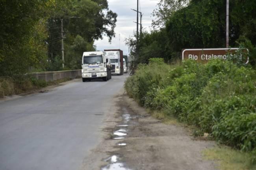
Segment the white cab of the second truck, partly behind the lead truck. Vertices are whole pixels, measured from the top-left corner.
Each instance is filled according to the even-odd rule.
[[[119,51],[106,51],[106,55],[110,60],[111,74],[121,75],[121,62]]]

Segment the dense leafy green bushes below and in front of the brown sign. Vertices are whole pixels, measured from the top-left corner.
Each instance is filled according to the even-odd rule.
[[[150,64],[139,65],[135,75],[126,80],[125,89],[141,106],[160,112],[160,118],[176,117],[196,127],[197,135],[209,133],[219,143],[234,148],[230,152],[247,157],[249,163],[243,166],[256,168],[254,69],[220,60],[169,65],[151,58]]]

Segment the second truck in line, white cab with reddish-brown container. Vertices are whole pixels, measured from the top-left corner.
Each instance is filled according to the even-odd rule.
[[[124,73],[123,53],[121,49],[104,49],[111,63],[111,74]]]

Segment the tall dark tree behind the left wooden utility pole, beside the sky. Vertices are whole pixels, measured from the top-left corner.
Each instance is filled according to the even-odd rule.
[[[115,36],[114,28],[117,22],[117,14],[109,10],[108,2],[106,0],[58,0],[56,1],[56,9],[48,20],[49,37],[47,42],[48,56],[51,61],[54,61],[56,57],[60,59],[61,56],[61,37],[60,37],[60,25],[61,19],[63,19],[64,29],[64,42],[65,42],[65,54],[69,55],[70,51],[75,46],[75,41],[80,37],[80,40],[85,44],[90,44],[89,48],[85,46],[76,46],[80,49],[76,51],[95,50],[93,43],[95,40],[102,38],[102,34],[106,34],[111,38]],[[82,38],[82,39],[81,39]],[[80,57],[82,52],[80,53]],[[70,54],[68,59],[71,60]],[[74,57],[76,60],[76,57]],[[68,61],[65,57],[65,61]],[[73,63],[73,62],[71,62]],[[61,63],[60,63],[61,64]],[[78,63],[73,63],[75,68]],[[69,64],[65,64],[68,68],[74,68]]]

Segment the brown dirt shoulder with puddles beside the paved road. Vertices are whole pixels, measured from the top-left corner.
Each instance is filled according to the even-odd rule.
[[[82,169],[215,169],[213,161],[202,159],[202,150],[214,147],[214,142],[194,140],[182,126],[154,119],[124,91],[115,102],[117,113],[109,114],[105,122],[105,139],[85,159]]]

